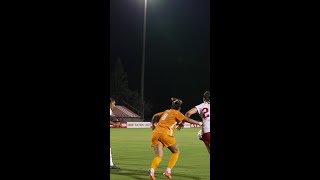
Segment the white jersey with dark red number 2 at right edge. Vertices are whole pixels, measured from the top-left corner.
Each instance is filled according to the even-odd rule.
[[[196,106],[200,117],[202,118],[202,133],[210,132],[210,104],[204,102]]]

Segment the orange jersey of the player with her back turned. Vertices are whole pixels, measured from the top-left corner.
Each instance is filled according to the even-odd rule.
[[[161,117],[154,129],[154,133],[168,134],[169,136],[173,136],[173,131],[176,129],[177,122],[181,122],[186,118],[180,111],[175,109],[159,112],[156,115]]]

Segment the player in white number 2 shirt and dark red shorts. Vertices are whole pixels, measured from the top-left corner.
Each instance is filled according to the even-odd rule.
[[[206,91],[203,94],[203,103],[195,106],[194,108],[190,109],[185,116],[190,117],[192,114],[198,113],[202,118],[202,129],[201,129],[201,139],[209,154],[210,154],[210,92]]]

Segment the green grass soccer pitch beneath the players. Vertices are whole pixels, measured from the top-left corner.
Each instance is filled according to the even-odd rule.
[[[175,131],[180,156],[172,170],[172,179],[209,180],[210,155],[202,141],[198,140],[200,129]],[[110,129],[113,162],[121,170],[110,169],[111,180],[149,179],[148,169],[154,158],[151,148],[151,129]],[[165,148],[163,159],[155,172],[156,179],[167,179],[165,172],[171,152]]]

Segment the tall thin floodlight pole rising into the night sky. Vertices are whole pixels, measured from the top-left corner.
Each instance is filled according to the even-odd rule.
[[[144,23],[143,23],[143,44],[142,44],[142,67],[141,67],[141,110],[142,110],[142,119],[144,119],[144,62],[146,54],[146,25],[147,25],[147,0],[144,1]]]

